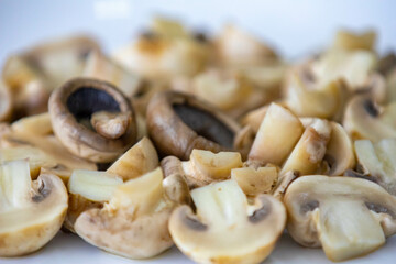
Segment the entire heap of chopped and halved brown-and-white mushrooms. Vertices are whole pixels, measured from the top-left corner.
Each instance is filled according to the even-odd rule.
[[[377,250],[396,233],[396,56],[375,37],[292,64],[232,25],[155,19],[112,55],[76,36],[10,56],[0,256],[62,227],[131,258],[261,263],[286,229],[332,261]]]

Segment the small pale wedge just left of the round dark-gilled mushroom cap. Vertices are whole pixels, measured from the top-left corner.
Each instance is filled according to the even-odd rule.
[[[35,135],[50,135],[53,133],[48,112],[22,118],[11,124],[16,133],[32,133]]]

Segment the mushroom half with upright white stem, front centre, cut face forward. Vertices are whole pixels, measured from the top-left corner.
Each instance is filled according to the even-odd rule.
[[[254,205],[230,179],[191,191],[197,208],[180,206],[169,220],[177,248],[198,263],[261,263],[282,234],[284,205],[261,195]]]

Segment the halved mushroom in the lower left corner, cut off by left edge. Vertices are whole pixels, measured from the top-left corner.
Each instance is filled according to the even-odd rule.
[[[0,165],[0,256],[43,248],[59,231],[67,210],[63,182],[42,174],[32,182],[26,161]]]

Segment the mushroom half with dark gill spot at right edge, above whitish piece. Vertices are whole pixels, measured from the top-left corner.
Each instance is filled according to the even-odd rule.
[[[346,106],[343,127],[353,140],[396,138],[396,102],[382,107],[373,98],[355,96]]]

